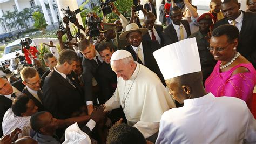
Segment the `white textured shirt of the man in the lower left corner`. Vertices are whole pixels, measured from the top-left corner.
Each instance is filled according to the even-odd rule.
[[[21,138],[23,136],[30,136],[30,116],[23,116],[19,117],[12,112],[12,109],[9,108],[3,118],[3,134],[8,135],[11,133],[12,130],[14,130],[16,127],[22,130],[22,133],[18,135],[18,138]]]

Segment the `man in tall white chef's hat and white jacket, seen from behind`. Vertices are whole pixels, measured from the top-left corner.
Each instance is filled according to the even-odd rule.
[[[246,103],[205,91],[195,38],[165,46],[154,57],[169,93],[184,103],[162,115],[156,143],[256,142],[255,119]]]

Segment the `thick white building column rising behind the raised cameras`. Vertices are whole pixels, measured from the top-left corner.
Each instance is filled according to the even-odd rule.
[[[56,0],[56,2],[57,2],[57,5],[58,5],[58,9],[59,9],[59,14],[60,14],[59,19],[60,20],[62,20],[62,18],[64,17],[64,14],[63,14],[64,12],[61,11],[62,8],[66,9],[66,7],[69,6],[69,9],[71,11],[75,11],[79,8],[78,4],[77,4],[77,0],[69,0],[69,1]],[[78,13],[76,15],[76,18],[78,19],[79,24],[84,26],[80,13]],[[64,25],[64,23],[63,23],[63,25]],[[71,26],[71,23],[69,23],[69,25],[70,25],[70,30],[73,31],[73,26]],[[84,33],[84,31],[81,31],[81,33]]]

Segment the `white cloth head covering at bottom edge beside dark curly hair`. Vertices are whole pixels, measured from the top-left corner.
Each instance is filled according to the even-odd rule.
[[[77,125],[77,122],[66,128],[65,141],[63,144],[91,144],[89,136]]]

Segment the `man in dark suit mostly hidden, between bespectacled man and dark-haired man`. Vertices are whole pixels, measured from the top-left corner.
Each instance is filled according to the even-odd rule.
[[[51,53],[45,53],[43,59],[45,65],[48,66],[49,69],[46,70],[44,74],[41,76],[41,88],[44,85],[44,79],[46,78],[46,76],[48,76],[48,74],[53,70],[53,67],[57,65],[57,58]]]

